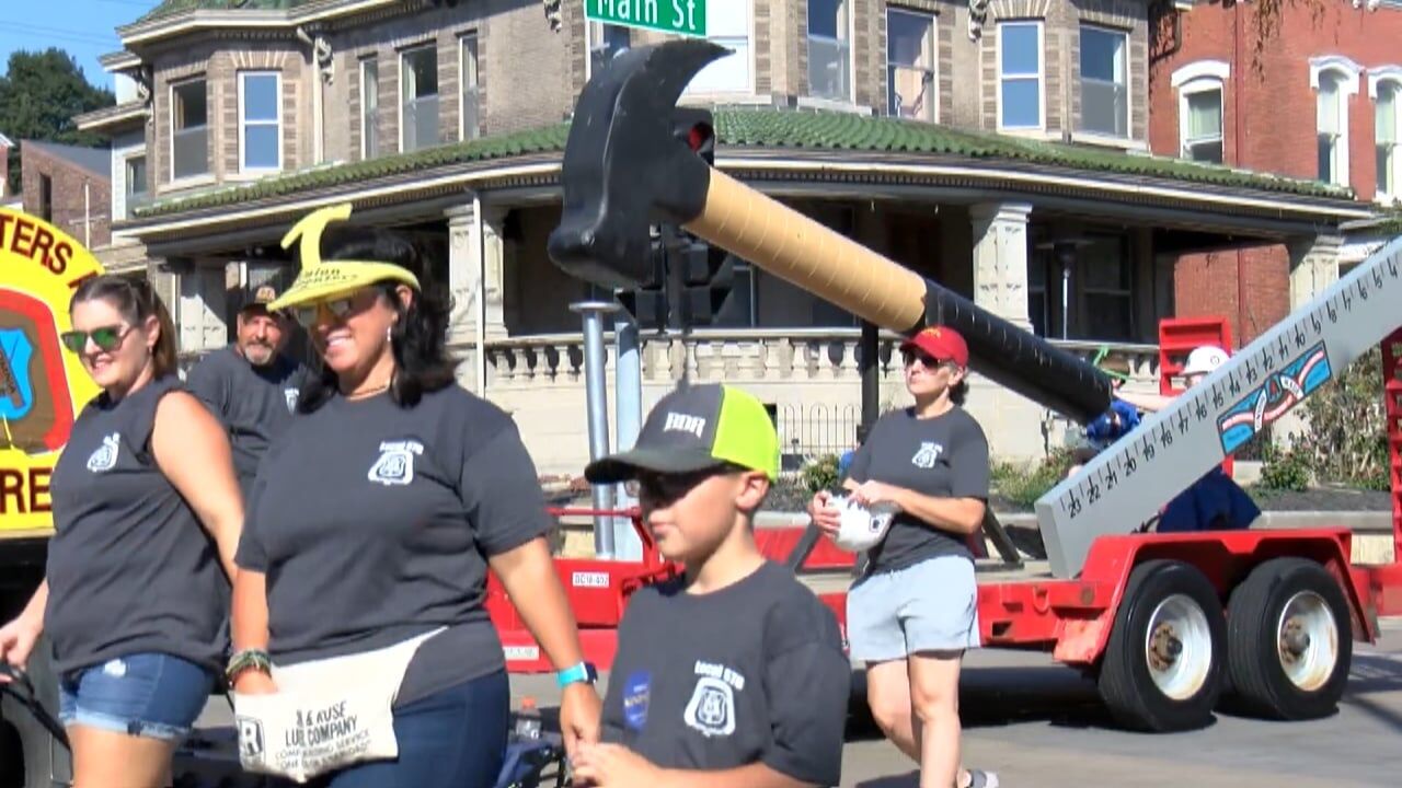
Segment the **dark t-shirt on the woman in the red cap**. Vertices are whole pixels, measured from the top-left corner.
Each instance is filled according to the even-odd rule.
[[[987,501],[988,439],[959,407],[928,419],[917,418],[911,408],[890,411],[872,425],[847,468],[847,478],[879,481],[937,498]],[[939,555],[973,559],[963,534],[901,512],[886,538],[868,552],[869,571],[893,572]]]

